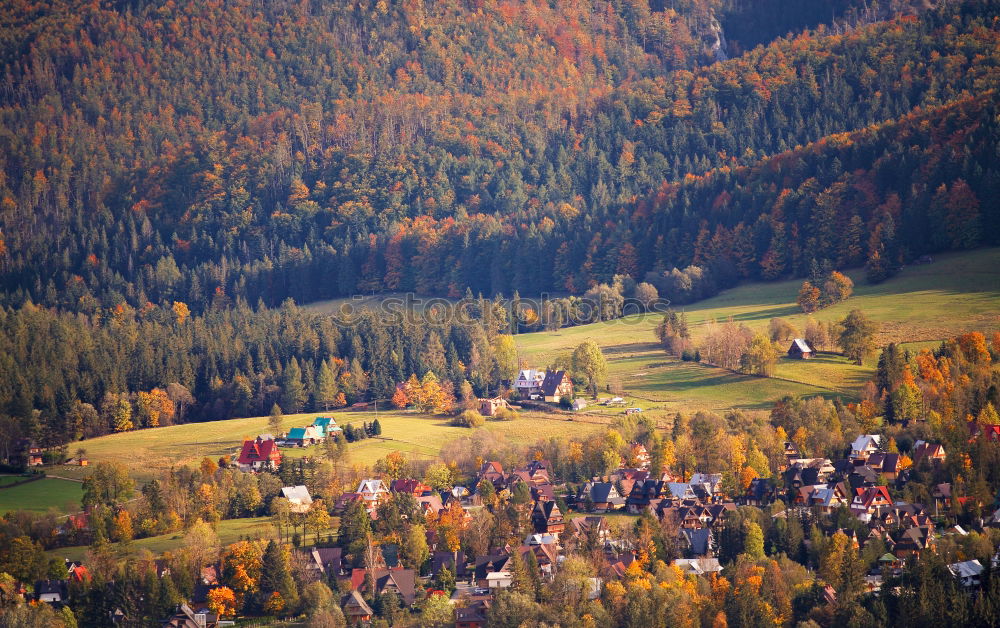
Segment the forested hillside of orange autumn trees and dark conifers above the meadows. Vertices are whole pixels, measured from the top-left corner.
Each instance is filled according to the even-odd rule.
[[[741,42],[730,54],[814,26],[796,4],[10,5],[3,298],[199,311],[357,291],[580,292],[689,264],[726,285],[802,273],[813,256],[890,251],[891,272],[995,242],[990,108],[947,105],[995,87],[1000,5],[833,3],[833,26],[716,62],[726,24]],[[769,26],[751,32],[754,20]],[[906,131],[923,143],[881,174],[866,159],[896,147],[878,135],[833,163],[794,152],[904,129],[911,114],[948,118],[950,136]],[[785,151],[796,165],[765,177],[760,160]],[[886,178],[889,166],[904,174]],[[752,202],[721,193],[734,176]],[[968,229],[929,239],[949,195],[965,199]],[[845,225],[864,242],[846,245]]]

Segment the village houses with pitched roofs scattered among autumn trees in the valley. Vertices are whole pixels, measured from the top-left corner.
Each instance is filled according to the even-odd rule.
[[[537,375],[531,377],[538,379]],[[331,426],[335,428],[332,419],[317,419],[309,427],[326,436],[331,433]],[[874,539],[881,540],[887,552],[866,580],[869,589],[875,590],[881,586],[883,573],[899,571],[908,558],[919,558],[923,552],[934,550],[938,534],[934,516],[948,509],[952,499],[948,484],[934,488],[933,504],[893,499],[887,483],[895,482],[899,486],[904,482],[908,473],[904,467],[908,464],[899,454],[887,452],[886,445],[879,435],[862,435],[851,444],[843,459],[832,461],[802,457],[793,443],[786,443],[780,480],[755,479],[738,495],[726,493],[720,474],[694,473],[686,481],[669,473],[652,474],[649,452],[638,443],[631,445],[629,456],[634,466],[593,478],[575,490],[558,483],[547,460],[532,460],[511,470],[505,470],[500,462],[486,461],[474,478],[476,487],[489,482],[497,494],[512,494],[515,490],[523,494],[521,483],[528,488],[530,500],[525,508],[530,512],[531,530],[519,543],[470,559],[461,550],[451,551],[443,538],[438,538],[434,530],[428,530],[431,560],[426,576],[404,567],[399,560],[398,547],[393,544],[377,548],[371,574],[365,568],[351,568],[344,561],[340,548],[307,547],[296,551],[309,569],[315,570],[331,585],[338,585],[332,587],[334,590],[347,591],[341,606],[352,624],[373,618],[374,611],[366,599],[391,591],[398,594],[403,604],[411,605],[419,598],[421,588],[428,587],[430,579],[447,568],[458,582],[452,596],[456,605],[456,625],[474,628],[486,625],[494,595],[512,585],[516,559],[522,559],[527,565],[537,565],[539,577],[549,578],[562,559],[568,539],[575,542],[587,539],[603,550],[606,561],[590,583],[589,594],[593,598],[600,595],[605,582],[624,577],[628,566],[636,560],[636,548],[628,538],[618,538],[608,525],[609,520],[602,516],[606,513],[651,513],[661,520],[670,518],[684,554],[683,558],[674,561],[674,565],[684,573],[700,575],[722,570],[717,558],[718,542],[728,517],[738,506],[768,507],[781,500],[788,507],[777,512],[775,517],[787,517],[796,510],[834,513],[847,509],[860,522],[841,530],[851,543],[861,548]],[[946,460],[942,445],[923,441],[918,441],[909,455],[918,465],[940,465]],[[239,457],[240,468],[246,470],[270,468],[278,463],[280,453],[275,439],[263,436],[246,441]],[[292,512],[306,513],[313,504],[305,486],[288,486],[281,492]],[[482,506],[477,492],[464,487],[436,491],[417,479],[389,481],[370,477],[362,479],[354,491],[342,494],[333,512],[343,514],[351,504],[361,503],[374,520],[381,504],[401,494],[411,495],[426,515],[458,511],[467,523],[472,520],[470,510]],[[564,512],[566,509],[580,514],[570,517]],[[995,518],[1000,525],[1000,514]],[[955,526],[948,533],[965,532]],[[81,569],[83,571],[79,571]],[[984,571],[978,561],[955,563],[949,569],[969,587],[978,586]],[[77,575],[71,577],[86,577],[82,567],[74,566],[71,574],[74,573]],[[197,623],[200,626],[215,625],[213,621],[217,618],[210,613],[192,609],[204,607],[207,592],[218,586],[217,573],[218,566],[207,566],[191,600],[192,605],[178,608],[170,620],[174,623],[165,625],[189,626],[193,625],[191,622],[201,622]],[[369,591],[369,588],[374,590]],[[64,599],[64,590],[65,582],[46,581],[36,586],[39,599],[52,603]]]

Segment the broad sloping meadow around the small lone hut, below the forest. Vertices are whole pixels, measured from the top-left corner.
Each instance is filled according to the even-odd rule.
[[[880,324],[880,345],[902,342],[911,349],[934,346],[960,332],[996,331],[1000,329],[998,268],[1000,249],[983,249],[906,268],[877,286],[865,283],[863,271],[853,271],[848,274],[855,282],[854,296],[814,316],[837,321],[850,310],[860,309]],[[771,318],[781,317],[802,330],[807,316],[795,304],[801,283],[746,284],[678,309],[687,313],[696,345],[708,321],[730,317],[760,331]],[[554,333],[522,334],[517,344],[523,359],[544,366],[552,355],[572,351],[584,340],[596,340],[608,357],[609,380],[627,398],[653,403],[654,410],[764,409],[784,395],[850,396],[872,376],[874,364],[857,366],[826,354],[808,361],[782,358],[770,379],[679,362],[655,343],[653,330],[659,319],[638,315]]]

